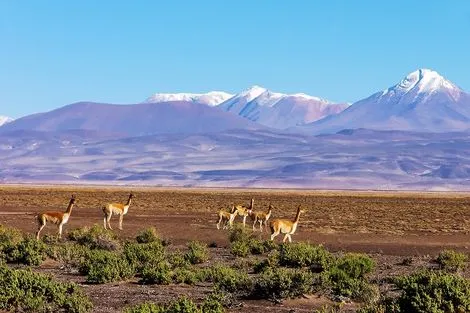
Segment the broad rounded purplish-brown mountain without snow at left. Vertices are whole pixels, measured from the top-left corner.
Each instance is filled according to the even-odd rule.
[[[162,133],[206,133],[263,126],[197,102],[172,101],[116,105],[78,102],[19,118],[0,127],[15,130],[91,130],[103,135],[142,136]]]

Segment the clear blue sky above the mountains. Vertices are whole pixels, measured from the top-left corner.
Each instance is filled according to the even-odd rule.
[[[0,115],[258,84],[354,102],[431,68],[470,91],[467,0],[0,0]]]

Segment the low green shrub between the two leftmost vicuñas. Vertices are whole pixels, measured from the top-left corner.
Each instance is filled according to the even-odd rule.
[[[96,224],[91,228],[83,227],[74,229],[69,232],[68,238],[90,249],[114,251],[121,247],[114,232],[106,230]]]

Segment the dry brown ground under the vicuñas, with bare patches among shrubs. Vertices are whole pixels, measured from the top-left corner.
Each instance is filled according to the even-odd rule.
[[[37,229],[35,216],[41,211],[65,210],[70,196],[77,205],[64,227],[68,230],[103,223],[101,207],[106,202],[125,202],[131,191],[125,187],[79,186],[0,186],[0,224],[16,227],[27,233]],[[217,231],[216,212],[232,204],[248,205],[255,199],[255,210],[276,208],[273,218],[293,218],[298,205],[307,209],[301,216],[294,241],[323,244],[331,251],[355,251],[371,254],[377,262],[377,278],[411,271],[413,267],[397,264],[404,257],[413,257],[415,265],[429,263],[439,251],[456,249],[468,252],[470,240],[470,195],[464,193],[396,193],[303,191],[264,189],[166,189],[132,188],[135,194],[129,213],[124,217],[124,230],[116,230],[122,238],[131,238],[142,229],[154,226],[173,245],[189,240],[228,245],[227,233]],[[240,220],[237,219],[239,222]],[[111,220],[117,228],[117,218]],[[251,227],[251,225],[250,225]],[[53,234],[56,228],[46,226],[42,235]],[[268,238],[268,234],[261,235]],[[277,238],[281,240],[281,236]],[[233,259],[227,249],[211,250],[214,258]],[[64,273],[59,265],[46,262],[40,269],[60,279],[79,283],[83,278]],[[140,286],[135,282],[106,285],[84,285],[95,303],[95,312],[116,312],[143,300],[162,301],[179,294],[201,299],[208,286]],[[283,305],[262,301],[246,301],[233,312],[311,312],[324,303],[323,298],[289,300]]]

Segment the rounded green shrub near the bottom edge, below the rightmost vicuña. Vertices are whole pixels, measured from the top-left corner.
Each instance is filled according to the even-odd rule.
[[[258,299],[279,300],[310,293],[318,276],[308,270],[269,268],[254,281],[251,296]]]

